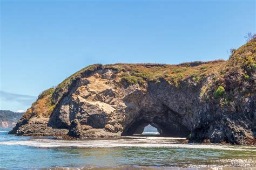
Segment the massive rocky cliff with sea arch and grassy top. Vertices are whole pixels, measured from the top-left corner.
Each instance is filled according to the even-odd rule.
[[[162,135],[247,143],[256,135],[253,39],[228,61],[92,65],[39,95],[17,135],[114,137],[151,124]]]

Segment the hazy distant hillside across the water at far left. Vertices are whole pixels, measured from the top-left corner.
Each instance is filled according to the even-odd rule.
[[[0,128],[12,128],[23,113],[0,110]]]

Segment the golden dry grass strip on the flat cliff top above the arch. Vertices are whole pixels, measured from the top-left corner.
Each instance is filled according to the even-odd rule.
[[[117,63],[114,65],[105,65],[104,67],[119,70],[122,72],[122,79],[130,83],[143,83],[144,81],[165,79],[170,82],[170,84],[178,86],[180,81],[188,77],[192,77],[193,81],[199,82],[204,77],[218,72],[225,64],[226,61],[216,60],[210,62],[187,62],[180,65]]]

